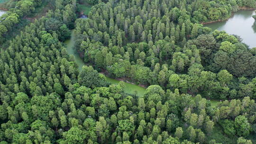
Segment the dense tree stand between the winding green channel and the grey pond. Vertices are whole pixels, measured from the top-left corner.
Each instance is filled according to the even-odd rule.
[[[158,2],[135,2],[133,7],[119,1],[115,8],[111,2],[95,5],[89,18],[76,21],[75,48],[84,53],[86,63],[107,70],[114,78],[179,89],[182,93],[201,93],[213,99],[252,97],[251,91],[244,94],[252,85],[240,85],[238,79],[246,77],[250,81],[256,76],[256,55],[235,36],[223,31],[209,34],[210,30],[201,24],[192,23],[192,13],[185,12],[185,9],[193,11],[209,21],[213,17],[229,16],[226,12],[236,11],[238,5],[221,3],[222,6],[216,8],[217,3],[210,1],[182,1],[182,6],[168,0]],[[201,7],[202,4],[206,8]],[[131,13],[123,7],[127,11],[149,7],[152,10]],[[222,70],[232,75],[229,81],[218,79]]]

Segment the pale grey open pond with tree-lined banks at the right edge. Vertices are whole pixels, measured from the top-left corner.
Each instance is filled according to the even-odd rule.
[[[204,25],[212,30],[225,30],[232,35],[238,35],[249,47],[256,47],[256,22],[252,16],[255,10],[239,10],[232,18],[223,22],[216,22]]]

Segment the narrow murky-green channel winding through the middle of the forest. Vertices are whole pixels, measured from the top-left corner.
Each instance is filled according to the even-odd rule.
[[[74,36],[75,36],[74,30],[72,30],[71,38],[66,40],[64,43],[66,44],[67,53],[74,55],[75,61],[76,61],[77,65],[78,65],[78,69],[79,69],[79,71],[81,71],[82,70],[82,66],[86,65],[86,64],[82,61],[82,59],[80,58],[80,56],[76,52],[76,50],[73,49],[73,45],[75,43]],[[107,77],[107,81],[109,81],[112,84],[119,83],[118,80],[111,79],[109,77]],[[142,88],[142,87],[137,86],[135,84],[130,84],[130,83],[125,82],[124,92],[127,93],[127,94],[135,94],[135,92],[137,91],[137,96],[141,97],[141,96],[144,95],[145,90],[146,90],[145,88]]]

